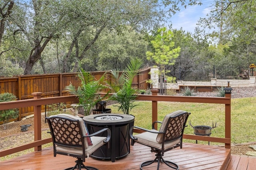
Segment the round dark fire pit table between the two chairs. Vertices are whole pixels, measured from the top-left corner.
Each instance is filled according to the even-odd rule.
[[[115,159],[122,158],[130,152],[130,140],[128,136],[129,123],[134,122],[134,116],[126,114],[102,113],[83,117],[90,134],[104,128],[111,131],[111,139],[108,144],[103,145],[91,154],[93,158]],[[104,133],[99,136],[105,135]]]

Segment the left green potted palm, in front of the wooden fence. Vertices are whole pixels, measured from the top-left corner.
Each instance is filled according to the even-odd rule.
[[[100,92],[108,88],[104,85],[105,74],[101,76],[99,80],[96,80],[90,72],[86,72],[82,68],[81,62],[78,59],[77,61],[79,64],[77,77],[80,79],[81,84],[76,89],[76,87],[70,82],[70,84],[65,87],[65,90],[69,94],[77,96],[79,106],[84,108],[84,115],[90,115],[96,103],[102,100],[102,98],[106,98],[108,95],[107,93],[102,98],[98,98]]]

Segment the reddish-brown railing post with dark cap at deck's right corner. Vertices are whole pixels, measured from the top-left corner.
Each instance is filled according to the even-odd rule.
[[[228,87],[224,88],[225,98],[230,98],[229,104],[225,104],[225,138],[230,139],[230,143],[225,143],[225,148],[231,148],[231,90],[229,82]]]

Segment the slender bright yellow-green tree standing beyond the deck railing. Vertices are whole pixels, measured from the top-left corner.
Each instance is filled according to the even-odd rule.
[[[172,41],[173,33],[166,27],[160,28],[157,31],[154,40],[150,41],[154,51],[147,51],[147,59],[153,60],[160,67],[160,93],[163,94],[163,78],[166,78],[166,65],[173,65],[175,59],[179,56],[180,47],[174,48],[174,42]]]

